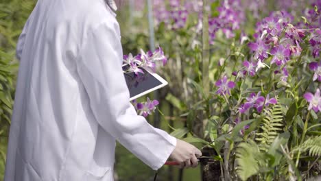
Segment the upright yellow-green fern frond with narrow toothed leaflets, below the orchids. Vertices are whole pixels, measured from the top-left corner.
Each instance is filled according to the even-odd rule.
[[[264,112],[265,117],[263,118],[261,132],[257,133],[257,138],[255,138],[256,141],[259,141],[263,150],[273,143],[283,127],[283,112],[279,104],[265,109]]]

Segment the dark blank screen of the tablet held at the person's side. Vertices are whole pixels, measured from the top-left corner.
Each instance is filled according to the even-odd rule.
[[[126,70],[126,68],[123,67],[123,70]],[[145,69],[142,70],[144,74],[139,73],[139,75],[135,75],[135,73],[124,73],[126,84],[130,90],[130,97],[147,92],[148,90],[163,84]]]

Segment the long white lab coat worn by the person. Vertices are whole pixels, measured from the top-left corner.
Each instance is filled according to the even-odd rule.
[[[17,45],[5,181],[113,180],[116,140],[154,170],[174,150],[130,104],[115,16],[104,0],[38,0]]]

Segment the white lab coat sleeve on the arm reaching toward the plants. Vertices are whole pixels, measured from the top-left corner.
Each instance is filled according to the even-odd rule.
[[[120,36],[115,26],[103,23],[88,32],[77,58],[78,74],[99,125],[140,160],[156,170],[176,147],[176,138],[147,123],[130,104],[121,68]],[[108,154],[108,153],[106,153]]]

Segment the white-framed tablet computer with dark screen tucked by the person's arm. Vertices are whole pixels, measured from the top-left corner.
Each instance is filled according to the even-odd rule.
[[[128,65],[123,66],[123,71],[128,69]],[[126,84],[130,91],[130,101],[137,99],[147,93],[151,93],[158,88],[166,86],[168,82],[148,69],[141,68],[144,73],[124,73]]]

